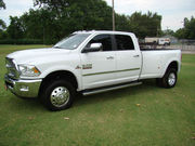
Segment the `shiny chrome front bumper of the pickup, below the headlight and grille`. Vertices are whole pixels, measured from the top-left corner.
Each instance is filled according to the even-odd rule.
[[[15,80],[4,76],[6,89],[21,97],[38,97],[41,79],[38,80]]]

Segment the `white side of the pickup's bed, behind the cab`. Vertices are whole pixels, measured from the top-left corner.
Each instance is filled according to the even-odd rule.
[[[140,79],[161,78],[172,59],[181,57],[178,49],[141,49],[141,53],[143,64]]]

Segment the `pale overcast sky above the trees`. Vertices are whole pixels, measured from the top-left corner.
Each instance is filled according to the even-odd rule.
[[[21,16],[30,8],[32,0],[3,0],[6,10],[0,11],[0,18],[9,25],[9,16]],[[112,5],[112,0],[105,0]],[[157,12],[162,16],[162,29],[177,30],[183,27],[183,18],[195,16],[195,0],[115,0],[115,11],[119,14],[131,15],[135,11]]]

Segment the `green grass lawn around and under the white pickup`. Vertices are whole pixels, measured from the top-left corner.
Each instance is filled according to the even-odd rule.
[[[76,98],[68,110],[52,112],[38,99],[21,99],[3,89],[5,54],[38,45],[0,45],[1,146],[195,145],[195,55],[183,55],[173,89],[147,80]]]

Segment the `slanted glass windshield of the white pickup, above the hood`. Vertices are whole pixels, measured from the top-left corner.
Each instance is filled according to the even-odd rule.
[[[54,48],[74,50],[82,43],[90,34],[74,34],[57,42]]]

